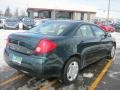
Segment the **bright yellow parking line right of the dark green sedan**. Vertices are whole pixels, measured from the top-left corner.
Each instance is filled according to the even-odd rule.
[[[106,66],[104,67],[104,69],[102,70],[102,72],[98,75],[98,77],[95,79],[95,81],[89,87],[89,90],[96,90],[97,85],[102,80],[103,76],[105,75],[105,73],[107,72],[107,70],[109,69],[109,67],[111,66],[112,62],[113,62],[113,60],[109,60],[108,61],[108,63],[106,64]]]

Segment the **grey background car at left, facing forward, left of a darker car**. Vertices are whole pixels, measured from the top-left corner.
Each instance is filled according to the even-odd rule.
[[[5,20],[4,29],[19,29],[19,22],[18,18],[7,18]]]

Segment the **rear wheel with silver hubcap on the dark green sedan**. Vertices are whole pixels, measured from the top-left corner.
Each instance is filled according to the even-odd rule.
[[[76,81],[78,74],[79,74],[79,59],[75,57],[70,58],[63,68],[62,82],[65,85],[71,84],[74,81]]]

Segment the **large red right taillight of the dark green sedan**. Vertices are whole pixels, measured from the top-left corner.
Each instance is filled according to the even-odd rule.
[[[34,54],[45,54],[53,51],[57,47],[57,44],[48,39],[42,39],[38,42]]]

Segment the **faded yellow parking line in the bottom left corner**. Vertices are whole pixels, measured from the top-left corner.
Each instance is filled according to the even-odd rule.
[[[5,81],[3,81],[3,82],[0,83],[0,87],[5,86],[5,85],[7,85],[7,84],[9,84],[9,83],[11,83],[11,82],[13,82],[15,80],[19,80],[19,79],[23,78],[24,76],[25,75],[20,74],[18,76],[15,76],[15,77],[12,77],[12,78],[10,78],[8,80],[5,80]]]

